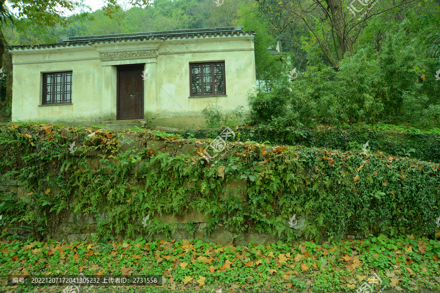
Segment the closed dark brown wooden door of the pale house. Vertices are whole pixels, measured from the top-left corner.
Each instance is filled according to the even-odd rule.
[[[144,118],[144,81],[142,67],[119,67],[117,77],[116,119]]]

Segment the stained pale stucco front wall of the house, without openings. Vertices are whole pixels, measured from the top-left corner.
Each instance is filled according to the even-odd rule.
[[[50,123],[116,120],[116,67],[145,63],[144,118],[162,126],[202,125],[208,103],[224,113],[247,109],[247,91],[256,85],[253,35],[196,37],[55,46],[13,50],[12,121]],[[149,51],[137,57],[105,57],[107,53]],[[113,56],[113,55],[110,55]],[[190,63],[225,62],[226,96],[189,98]],[[43,73],[72,71],[72,104],[42,105]]]

